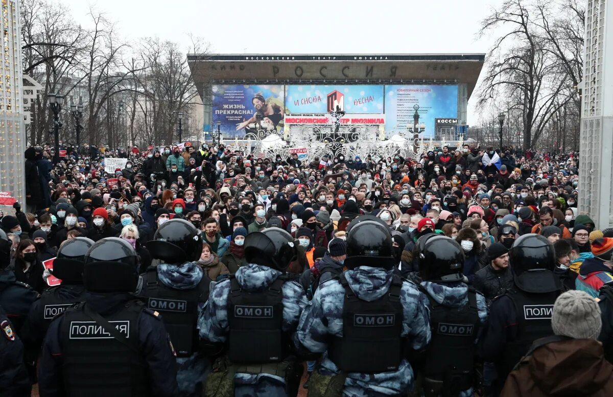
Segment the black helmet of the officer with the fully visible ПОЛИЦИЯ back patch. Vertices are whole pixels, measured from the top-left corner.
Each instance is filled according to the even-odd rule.
[[[83,284],[91,292],[134,292],[139,281],[139,257],[128,241],[107,237],[85,254]]]

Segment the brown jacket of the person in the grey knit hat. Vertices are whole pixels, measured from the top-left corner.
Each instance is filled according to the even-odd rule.
[[[524,357],[507,377],[500,397],[611,395],[613,365],[604,359],[603,346],[594,339],[568,339],[545,344]]]

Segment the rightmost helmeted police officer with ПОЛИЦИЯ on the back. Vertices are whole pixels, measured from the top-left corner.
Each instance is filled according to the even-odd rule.
[[[496,365],[493,395],[498,395],[509,372],[536,339],[552,335],[551,316],[562,292],[554,274],[553,245],[541,235],[520,236],[509,251],[514,272],[508,292],[495,298],[479,350]]]

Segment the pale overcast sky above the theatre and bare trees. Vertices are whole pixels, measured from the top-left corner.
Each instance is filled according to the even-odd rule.
[[[89,7],[116,21],[127,40],[157,36],[189,48],[188,34],[215,53],[487,53],[480,21],[501,0],[280,1],[60,0],[90,24]],[[474,99],[468,124],[476,123]]]

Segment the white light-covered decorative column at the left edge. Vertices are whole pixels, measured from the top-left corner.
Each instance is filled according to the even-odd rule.
[[[2,2],[2,72],[0,78],[0,192],[10,192],[23,202],[25,127],[21,81],[19,3]]]

